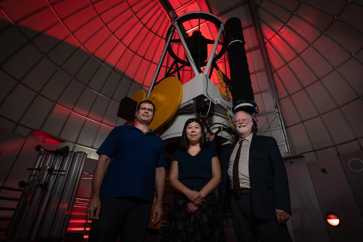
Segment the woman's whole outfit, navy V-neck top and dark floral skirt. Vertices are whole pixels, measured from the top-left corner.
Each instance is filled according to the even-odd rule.
[[[178,180],[191,190],[200,191],[212,179],[214,148],[202,149],[195,156],[178,150],[172,160],[178,161]],[[174,193],[162,242],[225,241],[222,221],[217,212],[217,199],[212,192],[195,213],[187,213],[188,198]]]

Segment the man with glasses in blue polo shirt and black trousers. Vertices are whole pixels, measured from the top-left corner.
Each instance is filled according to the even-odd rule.
[[[117,126],[99,147],[87,219],[89,241],[144,241],[154,200],[154,225],[160,222],[167,166],[163,140],[150,129],[155,105],[139,103],[135,125]]]

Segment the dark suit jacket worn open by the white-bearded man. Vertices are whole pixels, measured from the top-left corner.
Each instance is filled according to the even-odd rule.
[[[230,212],[228,164],[235,145],[228,145],[220,154],[222,178],[218,209],[221,215]],[[248,165],[254,216],[260,220],[276,220],[274,209],[282,209],[291,214],[286,168],[276,140],[268,136],[253,135]]]

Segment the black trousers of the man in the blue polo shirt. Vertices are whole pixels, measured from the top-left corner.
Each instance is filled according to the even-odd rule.
[[[99,220],[91,223],[89,242],[143,242],[152,204],[137,197],[101,198]]]

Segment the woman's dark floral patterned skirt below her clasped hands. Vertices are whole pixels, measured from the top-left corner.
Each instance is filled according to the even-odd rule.
[[[200,191],[201,188],[189,188]],[[187,213],[188,198],[175,192],[171,201],[162,242],[224,242],[224,228],[213,193],[195,213]]]

